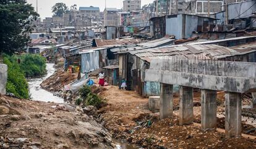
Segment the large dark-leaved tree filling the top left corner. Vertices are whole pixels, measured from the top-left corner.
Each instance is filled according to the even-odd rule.
[[[0,55],[25,49],[30,41],[27,34],[33,30],[32,21],[38,16],[26,0],[0,1]]]

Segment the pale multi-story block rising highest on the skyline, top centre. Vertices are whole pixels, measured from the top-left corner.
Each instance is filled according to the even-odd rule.
[[[123,11],[130,12],[132,10],[140,10],[142,7],[141,0],[124,0],[123,1]]]

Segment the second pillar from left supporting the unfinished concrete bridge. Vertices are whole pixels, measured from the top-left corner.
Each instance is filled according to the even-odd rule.
[[[193,123],[193,88],[179,87],[179,124]]]

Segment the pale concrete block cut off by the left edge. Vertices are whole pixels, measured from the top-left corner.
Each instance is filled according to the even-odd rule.
[[[6,94],[7,65],[0,64],[0,94]]]

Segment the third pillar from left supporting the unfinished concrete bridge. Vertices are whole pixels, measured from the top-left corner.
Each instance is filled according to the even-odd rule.
[[[216,91],[201,90],[201,126],[203,131],[215,129],[217,126],[216,97]]]

